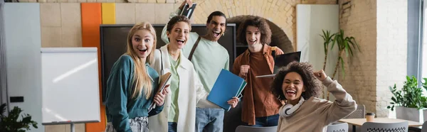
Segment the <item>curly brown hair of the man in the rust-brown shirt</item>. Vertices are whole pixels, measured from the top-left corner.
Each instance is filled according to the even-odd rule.
[[[260,43],[270,45],[271,43],[270,26],[268,26],[268,23],[267,21],[265,21],[264,18],[261,18],[259,16],[249,16],[249,18],[246,19],[245,22],[241,23],[241,25],[238,26],[237,39],[239,42],[248,45],[248,42],[246,42],[246,28],[248,28],[248,26],[257,27],[261,33]]]

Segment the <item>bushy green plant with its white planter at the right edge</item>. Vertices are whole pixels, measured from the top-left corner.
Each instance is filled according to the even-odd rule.
[[[426,81],[427,78],[424,78]],[[423,83],[426,86],[426,82]],[[427,97],[423,96],[423,89],[418,87],[416,77],[406,76],[406,82],[402,89],[397,89],[396,84],[394,87],[389,87],[393,97],[391,97],[391,106],[387,109],[394,111],[396,109],[396,118],[405,119],[409,121],[423,122],[423,109],[427,106]]]

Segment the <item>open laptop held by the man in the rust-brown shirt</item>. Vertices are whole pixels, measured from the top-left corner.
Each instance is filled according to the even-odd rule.
[[[274,59],[274,70],[273,75],[260,75],[258,77],[275,77],[275,74],[279,72],[280,67],[286,67],[290,62],[300,62],[301,51],[295,53],[286,53],[283,55],[276,55]]]

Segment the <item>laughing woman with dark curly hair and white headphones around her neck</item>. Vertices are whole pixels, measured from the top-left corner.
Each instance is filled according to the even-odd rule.
[[[317,98],[320,82],[331,92],[335,101]],[[312,71],[307,62],[291,62],[276,74],[271,91],[282,101],[278,132],[326,131],[327,126],[356,110],[356,101],[336,80],[327,77],[323,70]]]

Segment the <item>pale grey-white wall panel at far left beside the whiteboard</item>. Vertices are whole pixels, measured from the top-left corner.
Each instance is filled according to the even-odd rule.
[[[10,103],[19,106],[23,113],[31,114],[41,125],[41,26],[38,3],[6,3],[4,6],[6,34],[6,69],[9,97],[23,97],[24,101]]]

